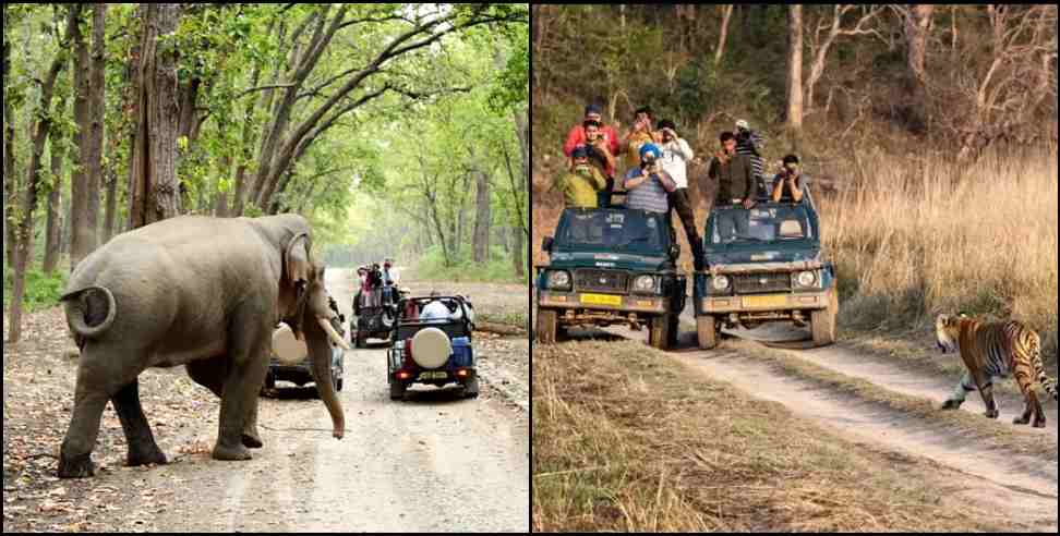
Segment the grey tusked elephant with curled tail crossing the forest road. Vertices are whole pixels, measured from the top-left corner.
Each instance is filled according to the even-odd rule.
[[[310,253],[299,215],[181,216],[120,234],[77,264],[60,302],[81,349],[61,478],[95,475],[92,451],[110,401],[128,439],[130,466],[165,464],[140,405],[147,367],[183,365],[220,398],[215,460],[250,460],[261,448],[258,392],[272,333],[284,320],[304,340],[321,400],[341,439],[346,421],[332,385],[335,332],[324,267]]]

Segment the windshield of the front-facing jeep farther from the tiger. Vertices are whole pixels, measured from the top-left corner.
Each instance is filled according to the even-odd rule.
[[[662,255],[670,246],[663,215],[642,210],[593,209],[564,211],[556,248],[565,252],[609,252]]]

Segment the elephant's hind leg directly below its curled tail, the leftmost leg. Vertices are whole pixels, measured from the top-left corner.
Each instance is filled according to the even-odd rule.
[[[59,477],[84,478],[95,475],[92,451],[99,436],[99,421],[107,401],[122,387],[135,381],[143,367],[123,366],[113,355],[131,352],[99,350],[88,342],[82,349],[77,365],[77,385],[74,389],[74,409],[70,427],[59,450]],[[123,399],[124,400],[124,399]],[[144,422],[146,428],[146,421]],[[146,428],[149,429],[149,428]]]

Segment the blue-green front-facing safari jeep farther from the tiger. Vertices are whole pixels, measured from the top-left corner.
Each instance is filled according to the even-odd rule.
[[[627,209],[564,210],[538,267],[538,341],[554,343],[574,326],[649,327],[648,341],[666,349],[677,339],[686,278],[664,215]]]

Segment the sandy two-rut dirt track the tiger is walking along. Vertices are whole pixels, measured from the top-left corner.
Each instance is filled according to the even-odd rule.
[[[686,317],[682,320],[679,348],[671,355],[691,370],[703,374],[704,378],[726,381],[756,398],[784,404],[794,414],[875,450],[928,459],[945,468],[939,475],[932,475],[932,478],[949,480],[953,494],[962,503],[989,509],[987,511],[997,512],[1002,519],[1012,520],[1031,531],[1057,531],[1058,472],[1055,453],[1051,456],[1023,455],[990,440],[957,436],[944,423],[910,415],[877,401],[862,399],[850,391],[822,388],[811,379],[756,358],[766,351],[762,341],[799,339],[805,333],[798,330],[763,328],[751,332],[735,331],[723,339],[716,350],[700,351],[696,348],[694,324]],[[610,328],[606,331],[636,340],[646,337],[645,331],[633,332],[627,328]],[[573,334],[576,338],[592,337],[592,332],[575,331]],[[955,378],[924,376],[894,363],[859,355],[842,344],[775,351],[782,352],[785,358],[800,360],[830,371],[870,381],[889,391],[919,397],[938,404],[956,381]],[[976,397],[968,397],[962,411],[981,415],[983,404]],[[1022,403],[1011,395],[1000,398],[1001,421],[1011,422],[1022,411]],[[1051,437],[1055,441],[1056,403],[1050,400],[1044,405],[1050,419],[1047,429],[1010,425],[1012,431]]]

